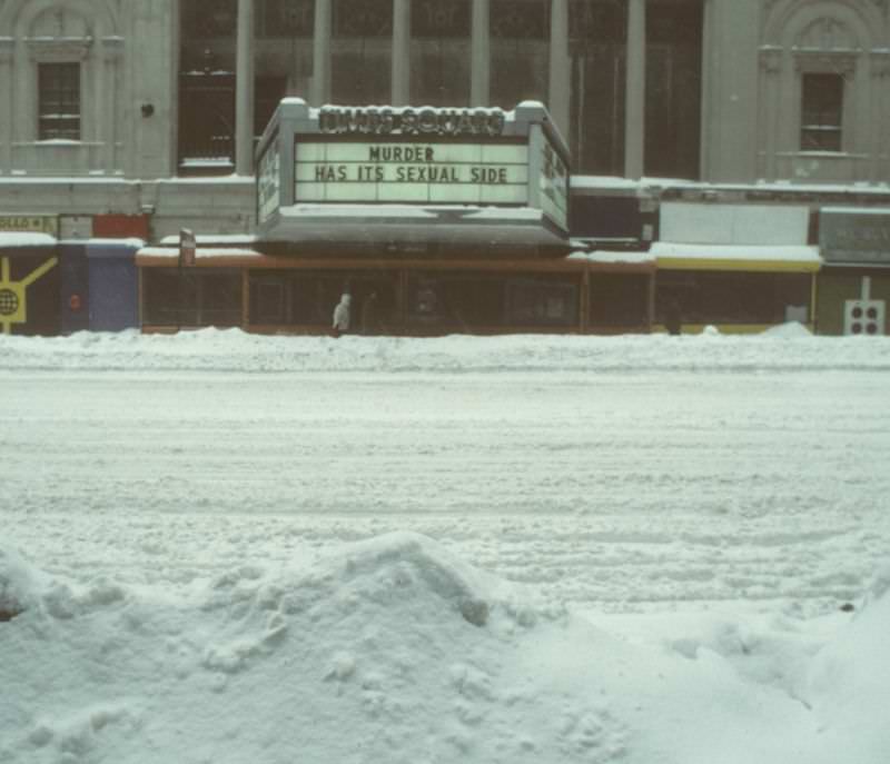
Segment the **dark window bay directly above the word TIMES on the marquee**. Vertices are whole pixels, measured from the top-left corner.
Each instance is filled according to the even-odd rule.
[[[393,61],[393,0],[334,0],[332,101],[388,103]]]

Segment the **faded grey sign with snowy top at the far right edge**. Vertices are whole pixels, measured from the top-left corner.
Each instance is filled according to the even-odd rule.
[[[822,256],[829,262],[890,265],[890,212],[823,209],[819,215]]]

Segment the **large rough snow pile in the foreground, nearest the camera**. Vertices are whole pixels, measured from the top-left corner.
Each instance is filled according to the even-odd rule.
[[[409,533],[276,570],[245,562],[187,596],[101,577],[23,592],[40,606],[0,624],[3,762],[878,764],[887,751],[880,696],[858,694],[887,676],[864,671],[881,664],[886,596],[819,656],[812,712],[705,645],[622,642]]]

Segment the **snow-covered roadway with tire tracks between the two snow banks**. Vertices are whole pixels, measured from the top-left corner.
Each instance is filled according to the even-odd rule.
[[[0,378],[4,525],[75,576],[181,579],[408,529],[556,599],[831,606],[886,554],[886,379],[20,370]]]

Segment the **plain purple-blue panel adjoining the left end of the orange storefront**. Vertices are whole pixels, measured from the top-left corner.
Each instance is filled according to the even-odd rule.
[[[134,251],[90,257],[90,329],[121,331],[139,326],[138,278]]]

